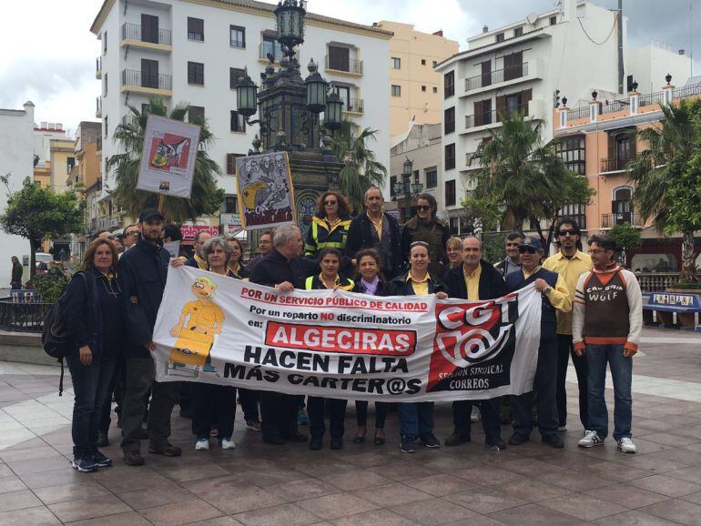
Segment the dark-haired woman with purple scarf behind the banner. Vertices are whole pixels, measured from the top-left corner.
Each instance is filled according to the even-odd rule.
[[[389,296],[390,288],[387,282],[381,277],[381,258],[374,248],[364,248],[355,255],[358,262],[358,274],[353,292],[369,294],[371,296]],[[390,408],[388,402],[375,402],[375,440],[376,446],[384,445],[384,420]],[[361,444],[365,441],[368,424],[368,402],[356,400],[355,415],[358,420],[358,430],[353,437],[354,444]]]

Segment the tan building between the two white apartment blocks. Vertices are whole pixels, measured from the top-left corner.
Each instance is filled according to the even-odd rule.
[[[441,74],[433,70],[455,55],[460,45],[442,31],[422,33],[411,24],[381,20],[377,27],[391,31],[390,134],[395,137],[417,125],[442,122]]]

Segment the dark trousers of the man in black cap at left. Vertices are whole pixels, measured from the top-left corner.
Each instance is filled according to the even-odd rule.
[[[178,397],[178,382],[157,382],[155,364],[151,358],[127,358],[127,385],[122,410],[122,450],[141,449],[138,439],[141,423],[147,411],[148,390],[151,403],[148,408],[148,440],[161,448],[170,436],[170,413]]]

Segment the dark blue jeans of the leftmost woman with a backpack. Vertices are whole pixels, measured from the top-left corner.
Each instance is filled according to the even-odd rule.
[[[95,450],[97,430],[100,426],[102,408],[111,394],[112,376],[117,365],[113,354],[93,355],[90,365],[80,363],[76,351],[66,356],[71,372],[73,390],[76,395],[73,404],[73,454],[76,457],[87,455]]]

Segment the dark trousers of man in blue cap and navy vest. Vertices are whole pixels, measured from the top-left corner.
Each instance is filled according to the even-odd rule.
[[[555,386],[557,371],[557,339],[541,339],[538,347],[538,367],[535,369],[533,389],[537,391],[538,430],[541,436],[557,432],[557,402]],[[533,431],[533,390],[512,397],[513,432],[523,437]]]

